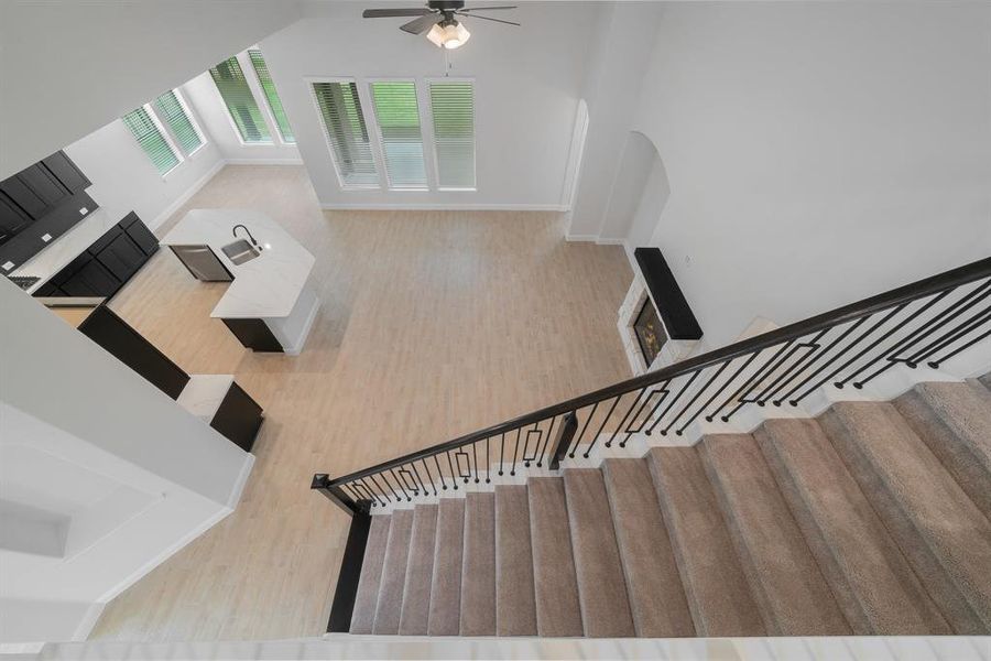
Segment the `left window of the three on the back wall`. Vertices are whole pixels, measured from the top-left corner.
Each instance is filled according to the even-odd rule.
[[[313,94],[341,185],[377,187],[379,171],[372,156],[358,86],[353,82],[314,83]]]

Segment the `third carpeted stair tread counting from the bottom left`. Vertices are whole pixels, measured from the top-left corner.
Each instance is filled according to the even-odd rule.
[[[437,506],[418,505],[413,510],[410,560],[403,587],[400,636],[426,636],[431,617],[431,579],[437,540]]]

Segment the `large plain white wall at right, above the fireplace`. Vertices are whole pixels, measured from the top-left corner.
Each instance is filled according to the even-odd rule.
[[[630,128],[707,346],[991,254],[991,6],[665,6]]]

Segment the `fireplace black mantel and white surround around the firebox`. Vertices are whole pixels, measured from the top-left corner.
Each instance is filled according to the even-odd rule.
[[[638,269],[620,306],[617,327],[633,373],[642,375],[687,358],[703,332],[661,250],[636,248],[633,254]],[[644,359],[633,328],[638,314],[647,301],[657,310],[668,338],[651,365]]]

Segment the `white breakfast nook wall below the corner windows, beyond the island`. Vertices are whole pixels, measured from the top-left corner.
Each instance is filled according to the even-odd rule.
[[[179,91],[190,106],[193,119],[203,130],[206,143],[185,156],[165,176],[159,174],[119,119],[65,148],[92,182],[87,193],[101,206],[133,209],[155,229],[224,165],[222,152],[203,121],[198,106],[193,106],[186,88],[182,86]]]

